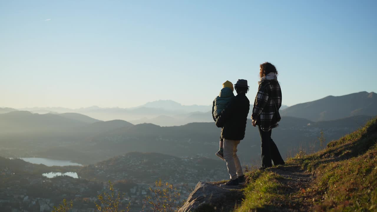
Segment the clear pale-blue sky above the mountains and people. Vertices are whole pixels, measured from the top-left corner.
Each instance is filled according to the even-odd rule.
[[[377,1],[2,1],[0,107],[211,104],[279,71],[283,104],[377,92]]]

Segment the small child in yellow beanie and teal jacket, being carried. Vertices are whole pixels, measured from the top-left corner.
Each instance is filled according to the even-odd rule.
[[[222,84],[220,94],[215,98],[215,100],[213,100],[212,103],[212,117],[214,121],[216,121],[216,118],[221,115],[222,110],[227,107],[229,101],[234,97],[233,91],[233,83],[230,81],[227,80]],[[218,152],[216,152],[216,155],[222,160],[224,160],[224,152],[222,148],[223,143],[224,140],[220,137],[220,149]]]

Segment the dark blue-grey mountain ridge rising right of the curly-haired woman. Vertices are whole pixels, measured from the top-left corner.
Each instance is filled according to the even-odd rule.
[[[327,121],[354,115],[377,115],[377,94],[366,91],[328,96],[319,100],[293,105],[280,112],[282,116],[306,118],[311,121]]]

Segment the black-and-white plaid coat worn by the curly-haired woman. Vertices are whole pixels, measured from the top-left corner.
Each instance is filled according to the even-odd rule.
[[[263,80],[259,83],[258,93],[254,100],[253,115],[251,119],[257,121],[257,125],[263,131],[270,131],[279,126],[274,117],[275,106],[279,110],[282,105],[282,91],[277,80]]]

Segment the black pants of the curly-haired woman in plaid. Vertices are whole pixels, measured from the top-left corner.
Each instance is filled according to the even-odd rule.
[[[284,160],[280,155],[279,149],[275,142],[271,138],[271,132],[263,131],[260,126],[258,126],[259,135],[262,141],[262,167],[272,167],[271,159],[274,161],[274,165],[284,164]]]

